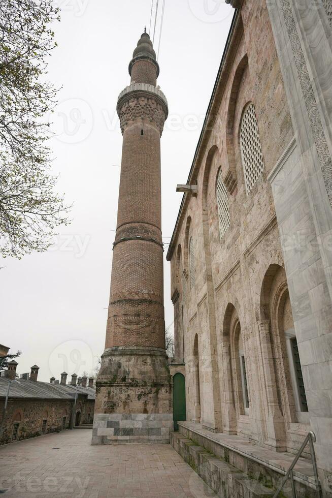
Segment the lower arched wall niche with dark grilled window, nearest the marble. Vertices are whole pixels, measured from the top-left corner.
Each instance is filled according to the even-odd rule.
[[[309,414],[286,273],[278,264],[271,264],[263,278],[258,327],[267,402],[273,415],[273,425],[268,425],[275,431],[270,437],[277,446],[296,449],[289,433],[299,423],[307,430]]]

